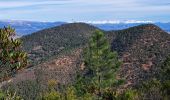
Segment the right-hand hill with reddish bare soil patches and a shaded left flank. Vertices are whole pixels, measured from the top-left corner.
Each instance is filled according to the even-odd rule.
[[[170,53],[170,35],[153,24],[115,31],[112,49],[123,60],[120,75],[134,85],[159,74],[159,66]]]

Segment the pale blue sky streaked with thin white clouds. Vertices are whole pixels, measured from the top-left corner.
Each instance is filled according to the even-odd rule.
[[[170,0],[0,0],[0,20],[170,22]]]

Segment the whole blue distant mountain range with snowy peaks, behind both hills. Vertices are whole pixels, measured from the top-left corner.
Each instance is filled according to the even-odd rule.
[[[66,24],[67,22],[34,22],[34,21],[13,21],[13,20],[5,20],[0,21],[0,27],[11,25],[13,28],[16,29],[17,35],[23,36],[27,34],[31,34],[37,32],[42,29],[51,28],[54,26],[60,26],[62,24]],[[126,28],[130,28],[133,26],[146,24],[146,23],[153,23],[160,28],[162,28],[166,32],[170,32],[170,23],[154,23],[150,21],[125,21],[125,22],[117,22],[117,21],[97,21],[91,22],[87,21],[85,23],[91,24],[99,29],[110,31],[110,30],[122,30]]]

